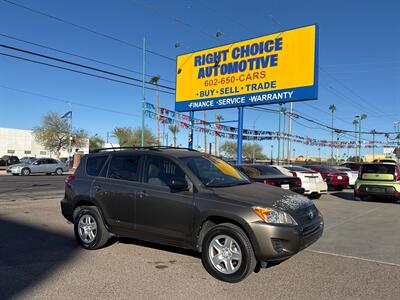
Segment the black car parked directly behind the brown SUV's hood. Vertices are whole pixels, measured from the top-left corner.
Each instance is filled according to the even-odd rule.
[[[291,190],[298,194],[304,194],[304,188],[301,187],[300,178],[284,175],[270,165],[242,164],[236,165],[236,168],[246,174],[254,182],[260,182],[285,190]]]

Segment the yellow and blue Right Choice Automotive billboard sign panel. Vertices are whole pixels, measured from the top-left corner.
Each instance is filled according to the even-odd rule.
[[[178,56],[175,110],[316,99],[317,38],[311,25]]]

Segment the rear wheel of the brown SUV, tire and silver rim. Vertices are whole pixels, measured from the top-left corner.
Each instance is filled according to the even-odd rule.
[[[81,206],[77,209],[78,212],[74,218],[74,233],[78,244],[87,250],[104,247],[110,239],[110,233],[104,226],[98,208]]]

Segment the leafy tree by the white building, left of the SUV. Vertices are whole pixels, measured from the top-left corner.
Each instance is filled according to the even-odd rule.
[[[42,118],[42,125],[33,129],[33,136],[36,141],[46,150],[54,153],[57,158],[61,150],[69,146],[70,136],[72,137],[72,148],[82,148],[87,144],[88,135],[83,129],[73,129],[70,132],[68,120],[62,119],[57,113],[50,112]]]

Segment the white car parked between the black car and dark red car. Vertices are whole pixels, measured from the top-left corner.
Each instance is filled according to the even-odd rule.
[[[319,199],[321,195],[326,194],[328,185],[321,174],[307,168],[299,166],[273,166],[284,174],[298,177],[301,179],[301,187],[304,188],[304,195],[310,199]]]

